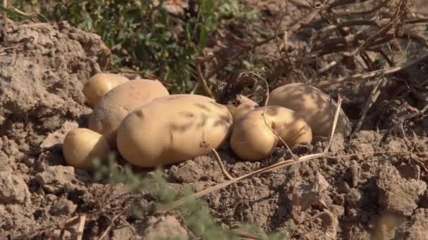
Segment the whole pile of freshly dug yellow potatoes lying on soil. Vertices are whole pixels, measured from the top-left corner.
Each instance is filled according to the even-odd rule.
[[[96,74],[83,93],[93,108],[88,128],[70,131],[63,142],[68,165],[91,168],[117,150],[134,166],[177,164],[230,145],[241,159],[257,161],[275,147],[328,137],[337,104],[308,84],[286,84],[270,93],[267,107],[243,95],[237,105],[220,105],[203,95],[170,95],[157,80],[130,81]],[[341,110],[336,133],[349,135]],[[279,138],[278,138],[279,137]]]

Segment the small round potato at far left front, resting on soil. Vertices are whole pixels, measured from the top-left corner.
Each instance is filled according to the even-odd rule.
[[[65,162],[75,168],[92,168],[92,161],[106,161],[111,152],[103,135],[88,128],[75,128],[65,135],[63,155]]]

